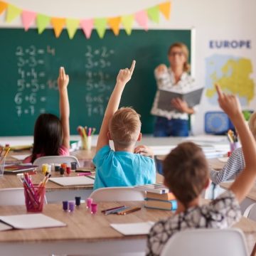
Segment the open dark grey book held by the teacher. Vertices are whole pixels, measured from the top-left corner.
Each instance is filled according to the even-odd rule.
[[[180,98],[181,100],[187,102],[188,107],[193,107],[200,103],[202,93],[203,88],[199,88],[186,93],[172,92],[169,90],[159,90],[158,108],[166,111],[176,110],[176,108],[171,105],[171,100],[175,98]]]

